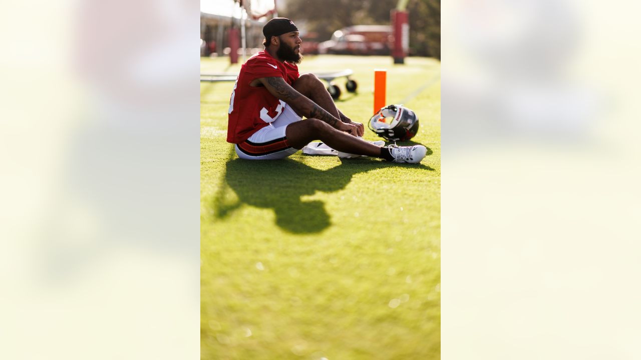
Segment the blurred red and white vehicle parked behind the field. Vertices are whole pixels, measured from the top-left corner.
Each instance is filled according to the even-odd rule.
[[[318,53],[389,55],[392,41],[392,26],[354,25],[334,31],[330,40],[318,45]]]

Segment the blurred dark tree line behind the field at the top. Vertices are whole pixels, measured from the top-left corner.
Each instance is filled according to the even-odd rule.
[[[287,0],[279,16],[304,20],[306,29],[329,40],[334,31],[352,25],[388,25],[398,0]],[[440,60],[440,0],[410,0],[410,55]],[[303,38],[304,41],[304,38]]]

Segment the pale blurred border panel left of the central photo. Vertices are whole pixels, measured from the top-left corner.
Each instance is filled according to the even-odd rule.
[[[199,357],[199,3],[0,8],[0,358]]]

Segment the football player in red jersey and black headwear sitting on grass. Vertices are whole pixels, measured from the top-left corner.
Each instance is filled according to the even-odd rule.
[[[242,65],[229,101],[227,141],[236,144],[238,157],[287,158],[320,140],[338,152],[397,163],[424,158],[423,145],[379,147],[362,140],[363,124],[338,111],[323,83],[313,74],[299,76],[303,41],[292,20],[269,20],[263,35],[265,50]]]

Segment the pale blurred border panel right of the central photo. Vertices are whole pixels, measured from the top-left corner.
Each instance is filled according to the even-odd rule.
[[[442,4],[443,359],[637,359],[638,4]]]

